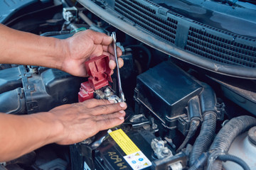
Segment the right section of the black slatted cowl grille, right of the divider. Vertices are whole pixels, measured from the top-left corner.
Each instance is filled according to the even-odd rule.
[[[226,64],[256,67],[256,47],[189,28],[186,50]]]

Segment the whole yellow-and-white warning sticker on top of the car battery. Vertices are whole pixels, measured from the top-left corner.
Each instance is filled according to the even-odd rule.
[[[142,153],[141,150],[132,142],[132,140],[124,133],[122,129],[108,130],[110,136],[113,138],[117,145],[124,151],[126,156],[124,159],[129,166],[134,170],[144,169],[151,166],[149,159]]]

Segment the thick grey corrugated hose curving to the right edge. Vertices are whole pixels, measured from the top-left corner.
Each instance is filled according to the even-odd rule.
[[[241,115],[231,119],[223,128],[221,128],[218,135],[215,137],[213,144],[210,146],[210,153],[213,152],[228,152],[231,143],[235,137],[240,135],[256,125],[256,118],[249,115]],[[208,162],[210,162],[210,156]],[[208,163],[208,169],[221,169],[221,161],[216,160],[213,164]]]

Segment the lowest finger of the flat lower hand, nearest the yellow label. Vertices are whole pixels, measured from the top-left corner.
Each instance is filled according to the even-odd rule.
[[[97,121],[96,125],[98,130],[107,130],[109,128],[113,128],[114,126],[121,125],[124,123],[124,120],[119,118],[105,119]]]

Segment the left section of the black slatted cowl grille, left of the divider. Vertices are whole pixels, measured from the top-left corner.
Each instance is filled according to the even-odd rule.
[[[159,38],[174,44],[178,23],[176,20],[159,18],[156,11],[136,0],[116,0],[114,10]]]

